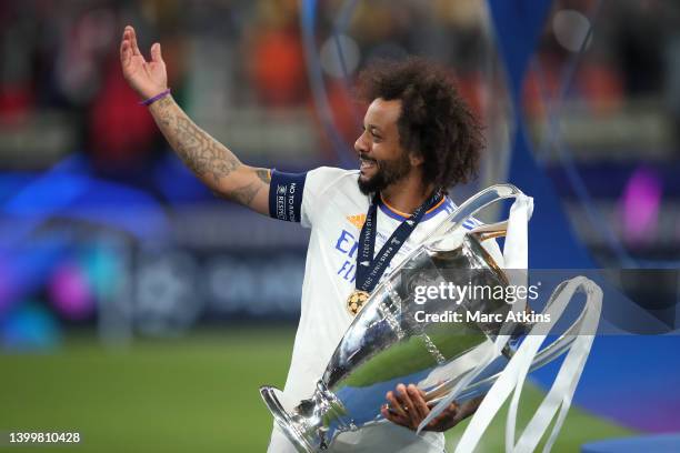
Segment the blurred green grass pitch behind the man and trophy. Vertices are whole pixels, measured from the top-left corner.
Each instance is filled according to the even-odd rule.
[[[70,446],[0,451],[263,452],[271,417],[261,384],[282,386],[293,342],[290,328],[239,328],[111,350],[93,336],[70,338],[52,353],[0,354],[0,432],[80,432]],[[523,423],[540,392],[522,393]],[[481,452],[502,450],[501,420]],[[447,434],[449,446],[462,430]],[[629,434],[571,409],[556,452]],[[6,434],[4,434],[6,435]]]

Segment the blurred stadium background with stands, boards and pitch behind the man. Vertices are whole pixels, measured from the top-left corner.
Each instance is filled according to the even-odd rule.
[[[284,382],[308,233],[182,168],[122,79],[127,23],[162,42],[197,123],[287,171],[356,167],[353,76],[430,57],[487,125],[479,181],[453,198],[534,195],[531,265],[678,268],[674,0],[3,1],[0,432],[78,431],[93,452],[268,443],[257,389]],[[597,339],[554,450],[680,431],[676,340]]]

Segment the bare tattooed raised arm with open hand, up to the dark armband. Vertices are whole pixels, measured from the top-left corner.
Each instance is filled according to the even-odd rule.
[[[120,61],[126,80],[141,99],[168,90],[160,44],[151,47],[151,60],[147,61],[132,27],[126,27],[123,32]],[[241,163],[227,147],[196,125],[171,95],[153,102],[149,111],[184,164],[216,194],[269,215],[269,170]]]

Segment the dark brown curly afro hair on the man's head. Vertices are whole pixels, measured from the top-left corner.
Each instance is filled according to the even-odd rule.
[[[359,74],[359,98],[401,100],[400,144],[423,158],[423,178],[448,189],[477,175],[481,125],[447,71],[421,58],[379,60]]]

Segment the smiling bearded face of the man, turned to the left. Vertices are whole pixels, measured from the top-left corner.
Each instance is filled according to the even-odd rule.
[[[363,133],[354,142],[359,154],[359,190],[379,192],[401,181],[413,170],[409,152],[399,143],[397,122],[401,101],[376,99],[363,118]]]

